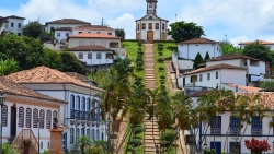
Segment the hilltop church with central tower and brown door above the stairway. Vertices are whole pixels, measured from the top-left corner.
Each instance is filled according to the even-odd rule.
[[[147,14],[136,20],[136,39],[142,40],[167,40],[168,20],[157,16],[158,0],[147,1]]]

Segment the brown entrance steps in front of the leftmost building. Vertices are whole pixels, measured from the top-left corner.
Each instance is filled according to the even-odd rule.
[[[22,152],[22,154],[37,154],[38,142],[31,129],[23,129],[12,142],[14,149]]]

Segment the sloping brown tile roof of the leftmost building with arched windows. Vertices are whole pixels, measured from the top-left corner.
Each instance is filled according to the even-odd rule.
[[[1,78],[1,76],[0,76],[0,90],[2,90],[3,93],[7,93],[7,94],[33,97],[33,98],[38,98],[38,99],[46,99],[46,100],[52,100],[52,102],[57,102],[57,103],[66,103],[64,100],[56,99],[47,95],[43,95],[28,87],[20,85],[7,78]]]

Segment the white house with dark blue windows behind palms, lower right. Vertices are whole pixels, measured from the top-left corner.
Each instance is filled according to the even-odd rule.
[[[264,107],[270,109],[274,108],[274,93],[272,92],[259,92],[259,93],[237,93],[253,97],[255,94],[260,95],[256,104],[262,104]],[[269,127],[270,122],[273,122],[270,111],[265,111],[266,117],[262,120],[259,118],[259,112],[253,111],[254,117],[250,118],[251,123],[247,125],[244,121],[240,121],[239,118],[232,116],[231,111],[226,110],[216,118],[216,122],[210,122],[209,128],[207,125],[201,122],[199,131],[196,135],[196,145],[201,151],[202,149],[215,149],[216,154],[221,154],[225,151],[226,154],[239,153],[239,154],[251,154],[251,151],[246,147],[244,141],[251,140],[267,140],[271,145],[271,150],[265,154],[274,153],[274,131],[273,128]],[[242,123],[243,128],[239,129],[239,125]],[[247,129],[244,131],[244,128]],[[228,129],[229,128],[229,129]],[[271,130],[270,130],[271,129]],[[270,132],[270,134],[269,134]]]

